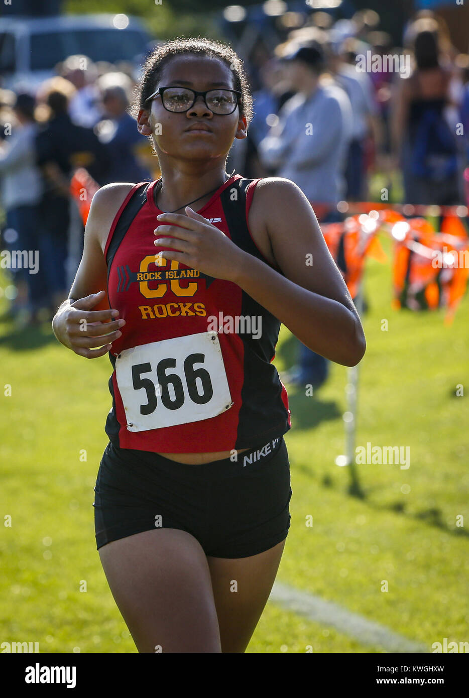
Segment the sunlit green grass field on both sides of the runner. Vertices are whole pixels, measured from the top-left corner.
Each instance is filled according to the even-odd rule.
[[[344,450],[345,367],[333,364],[314,396],[289,390],[292,523],[278,580],[430,650],[444,637],[469,639],[469,297],[447,327],[444,311],[392,310],[389,262],[368,260],[365,288],[357,445],[408,446],[410,468],[334,463]],[[280,371],[295,348],[282,327]],[[110,362],[66,350],[47,324],[13,332],[3,320],[0,372],[0,512],[11,517],[0,537],[1,641],[38,641],[41,652],[135,652],[96,552],[91,505],[107,444]],[[382,651],[269,602],[248,652],[307,645]]]

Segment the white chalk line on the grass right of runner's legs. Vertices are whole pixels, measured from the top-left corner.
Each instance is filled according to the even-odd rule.
[[[379,647],[388,652],[429,652],[429,648],[423,644],[409,640],[385,625],[281,581],[274,582],[269,601],[288,611],[294,611],[299,616],[306,616],[310,621],[330,625],[364,645]]]

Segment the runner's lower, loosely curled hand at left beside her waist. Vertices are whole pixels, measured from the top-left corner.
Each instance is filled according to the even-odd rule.
[[[57,339],[75,354],[87,359],[96,359],[107,354],[114,339],[118,339],[122,334],[119,327],[126,324],[125,320],[117,319],[117,310],[91,311],[91,308],[103,300],[103,293],[104,291],[91,293],[70,303],[70,306],[60,313],[54,326]],[[106,322],[107,320],[112,322]],[[102,346],[103,344],[105,346]]]

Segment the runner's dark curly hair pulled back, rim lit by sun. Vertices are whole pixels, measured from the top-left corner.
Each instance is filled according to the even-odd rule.
[[[232,70],[234,76],[234,89],[241,92],[239,98],[239,114],[246,117],[249,124],[253,118],[253,98],[249,89],[248,78],[244,70],[243,61],[232,50],[232,47],[222,41],[198,36],[196,38],[176,38],[161,44],[152,52],[143,66],[142,77],[137,84],[133,94],[133,104],[131,114],[137,119],[140,109],[147,109],[146,100],[155,91],[156,83],[161,79],[163,68],[170,62],[172,57],[181,54],[194,56],[204,56],[207,58],[218,58]]]

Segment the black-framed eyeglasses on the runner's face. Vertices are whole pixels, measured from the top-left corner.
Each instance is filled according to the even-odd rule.
[[[187,112],[193,107],[195,100],[202,95],[205,105],[214,114],[226,116],[236,109],[241,92],[237,89],[207,89],[198,92],[188,87],[158,87],[158,89],[145,100],[145,103],[161,96],[161,103],[168,112]]]

